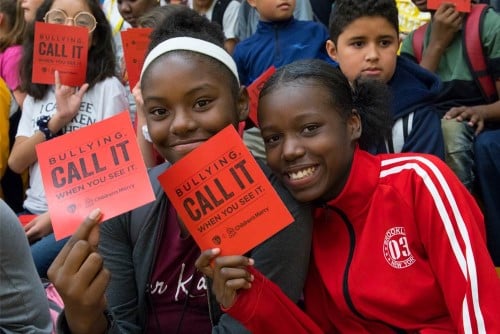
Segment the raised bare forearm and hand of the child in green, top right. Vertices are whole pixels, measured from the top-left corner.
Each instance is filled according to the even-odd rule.
[[[436,10],[431,22],[429,44],[422,54],[420,66],[435,72],[455,34],[462,27],[463,14],[450,3],[443,3]]]

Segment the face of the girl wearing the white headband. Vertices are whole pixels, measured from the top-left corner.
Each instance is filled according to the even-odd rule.
[[[229,70],[206,56],[172,52],[146,71],[141,89],[149,134],[171,163],[247,116],[247,95],[235,98]],[[227,72],[227,73],[226,73]]]

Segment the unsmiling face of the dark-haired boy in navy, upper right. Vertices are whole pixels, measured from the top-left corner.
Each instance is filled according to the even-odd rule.
[[[387,83],[396,70],[399,37],[385,18],[365,16],[346,26],[337,43],[329,40],[326,48],[350,82],[362,76]]]

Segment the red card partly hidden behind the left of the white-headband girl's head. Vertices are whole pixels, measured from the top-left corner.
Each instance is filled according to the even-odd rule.
[[[130,90],[141,78],[142,65],[144,65],[146,58],[151,31],[153,31],[151,28],[130,28],[121,32]]]

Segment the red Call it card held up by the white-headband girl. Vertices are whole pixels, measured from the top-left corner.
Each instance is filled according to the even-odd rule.
[[[57,240],[155,199],[128,111],[36,146]]]

